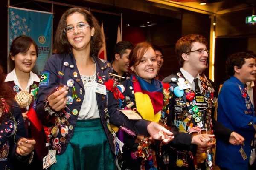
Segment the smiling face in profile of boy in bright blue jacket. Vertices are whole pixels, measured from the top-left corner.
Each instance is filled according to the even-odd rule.
[[[234,76],[238,78],[243,84],[246,82],[254,81],[256,74],[256,62],[254,58],[244,59],[245,63],[241,68],[234,67]]]

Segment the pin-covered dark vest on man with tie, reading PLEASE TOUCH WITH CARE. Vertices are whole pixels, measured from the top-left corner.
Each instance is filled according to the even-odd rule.
[[[199,127],[200,129],[206,129],[209,133],[212,133],[212,122],[211,113],[212,107],[215,103],[213,100],[213,93],[215,92],[211,84],[207,79],[200,77],[202,92],[195,93],[189,85],[189,82],[183,78],[183,75],[178,72],[172,78],[171,87],[169,90],[174,95],[170,95],[169,99],[174,100],[174,114],[175,114],[175,125],[181,132],[189,133],[192,127]],[[178,167],[187,167],[187,159],[202,159],[206,160],[207,168],[212,170],[212,153],[208,150],[204,153],[205,156],[200,158],[193,158],[192,153],[186,150],[177,151]],[[195,168],[199,168],[195,164]]]

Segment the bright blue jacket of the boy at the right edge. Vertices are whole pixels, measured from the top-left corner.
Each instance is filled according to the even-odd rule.
[[[247,96],[243,96],[239,86],[244,89],[243,83],[234,76],[224,82],[218,96],[217,120],[244,137],[245,145],[242,148],[248,158],[244,160],[239,153],[241,145],[228,145],[217,140],[216,164],[232,170],[247,170],[252,149],[251,143],[255,134],[253,124],[256,124],[256,117],[247,92]],[[248,108],[245,99],[248,101],[247,104],[250,104]]]

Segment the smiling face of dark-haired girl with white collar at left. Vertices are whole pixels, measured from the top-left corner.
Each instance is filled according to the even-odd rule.
[[[26,52],[20,52],[14,56],[11,55],[11,59],[15,62],[15,71],[21,71],[29,73],[35,66],[37,54],[35,46],[30,45],[29,50]]]

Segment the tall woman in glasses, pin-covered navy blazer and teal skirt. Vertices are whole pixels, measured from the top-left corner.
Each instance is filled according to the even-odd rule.
[[[98,21],[85,9],[71,8],[59,21],[57,54],[44,67],[36,107],[40,119],[51,127],[50,149],[56,150],[57,159],[52,169],[116,169],[117,144],[109,123],[150,133],[155,139],[160,132],[166,142],[172,139],[172,133],[160,125],[131,121],[117,110],[118,100],[109,97],[113,94],[106,88],[111,64],[97,57],[101,36]]]

